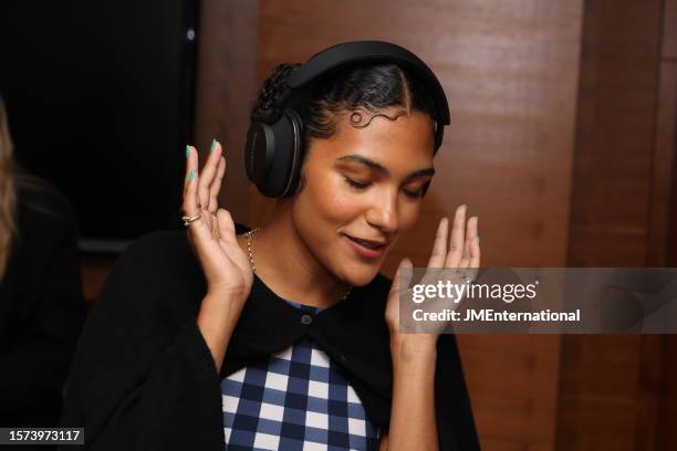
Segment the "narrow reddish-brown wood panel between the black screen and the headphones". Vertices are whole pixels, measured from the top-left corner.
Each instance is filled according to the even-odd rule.
[[[204,160],[221,141],[227,174],[219,203],[249,224],[250,182],[244,171],[249,109],[256,97],[259,4],[256,0],[201,0],[198,33],[196,145]]]

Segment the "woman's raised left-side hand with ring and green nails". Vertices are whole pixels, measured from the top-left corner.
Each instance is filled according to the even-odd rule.
[[[201,172],[198,171],[195,147],[186,146],[186,157],[183,210],[186,217],[200,214],[200,219],[188,227],[187,233],[207,280],[208,294],[235,297],[243,304],[251,291],[253,273],[249,256],[236,240],[230,212],[218,206],[221,180],[226,174],[221,145],[212,141]]]

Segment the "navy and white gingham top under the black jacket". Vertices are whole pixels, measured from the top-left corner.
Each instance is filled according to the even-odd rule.
[[[221,395],[226,450],[378,449],[379,431],[355,390],[308,336],[225,378]]]

